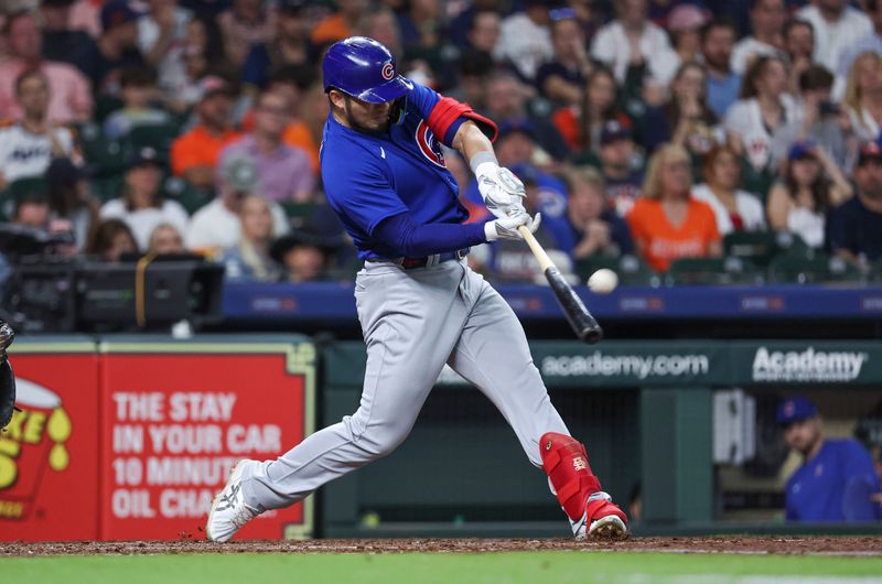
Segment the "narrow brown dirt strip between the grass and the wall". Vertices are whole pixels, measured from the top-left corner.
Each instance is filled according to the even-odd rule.
[[[680,553],[828,554],[882,556],[882,537],[811,538],[632,538],[615,543],[570,539],[377,539],[243,541],[225,544],[182,541],[0,543],[0,556],[183,554],[183,553],[402,553],[510,552],[541,550],[655,551]]]

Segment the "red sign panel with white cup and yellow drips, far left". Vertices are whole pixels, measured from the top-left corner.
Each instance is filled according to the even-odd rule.
[[[13,345],[10,363],[21,411],[0,434],[0,540],[98,539],[94,345]]]

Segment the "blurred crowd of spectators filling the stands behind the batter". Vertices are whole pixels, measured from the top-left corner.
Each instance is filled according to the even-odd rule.
[[[499,126],[499,163],[542,213],[538,239],[580,278],[601,266],[687,282],[690,269],[740,281],[819,261],[826,277],[882,271],[879,0],[2,10],[0,212],[68,232],[58,253],[200,253],[229,279],[351,278],[357,258],[319,172],[320,64],[363,34]],[[426,149],[470,220],[486,218],[467,165],[433,139]],[[482,246],[470,262],[497,281],[535,278],[523,245]]]

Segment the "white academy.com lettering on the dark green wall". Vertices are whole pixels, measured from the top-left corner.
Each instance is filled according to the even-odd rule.
[[[708,375],[710,358],[702,354],[686,355],[591,355],[547,356],[541,360],[546,377],[691,377]]]

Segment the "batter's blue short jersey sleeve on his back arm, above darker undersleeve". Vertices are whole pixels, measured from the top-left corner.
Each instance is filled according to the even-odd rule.
[[[351,154],[335,164],[323,164],[325,196],[334,210],[373,237],[384,219],[407,213],[408,207],[379,164],[364,152]]]

